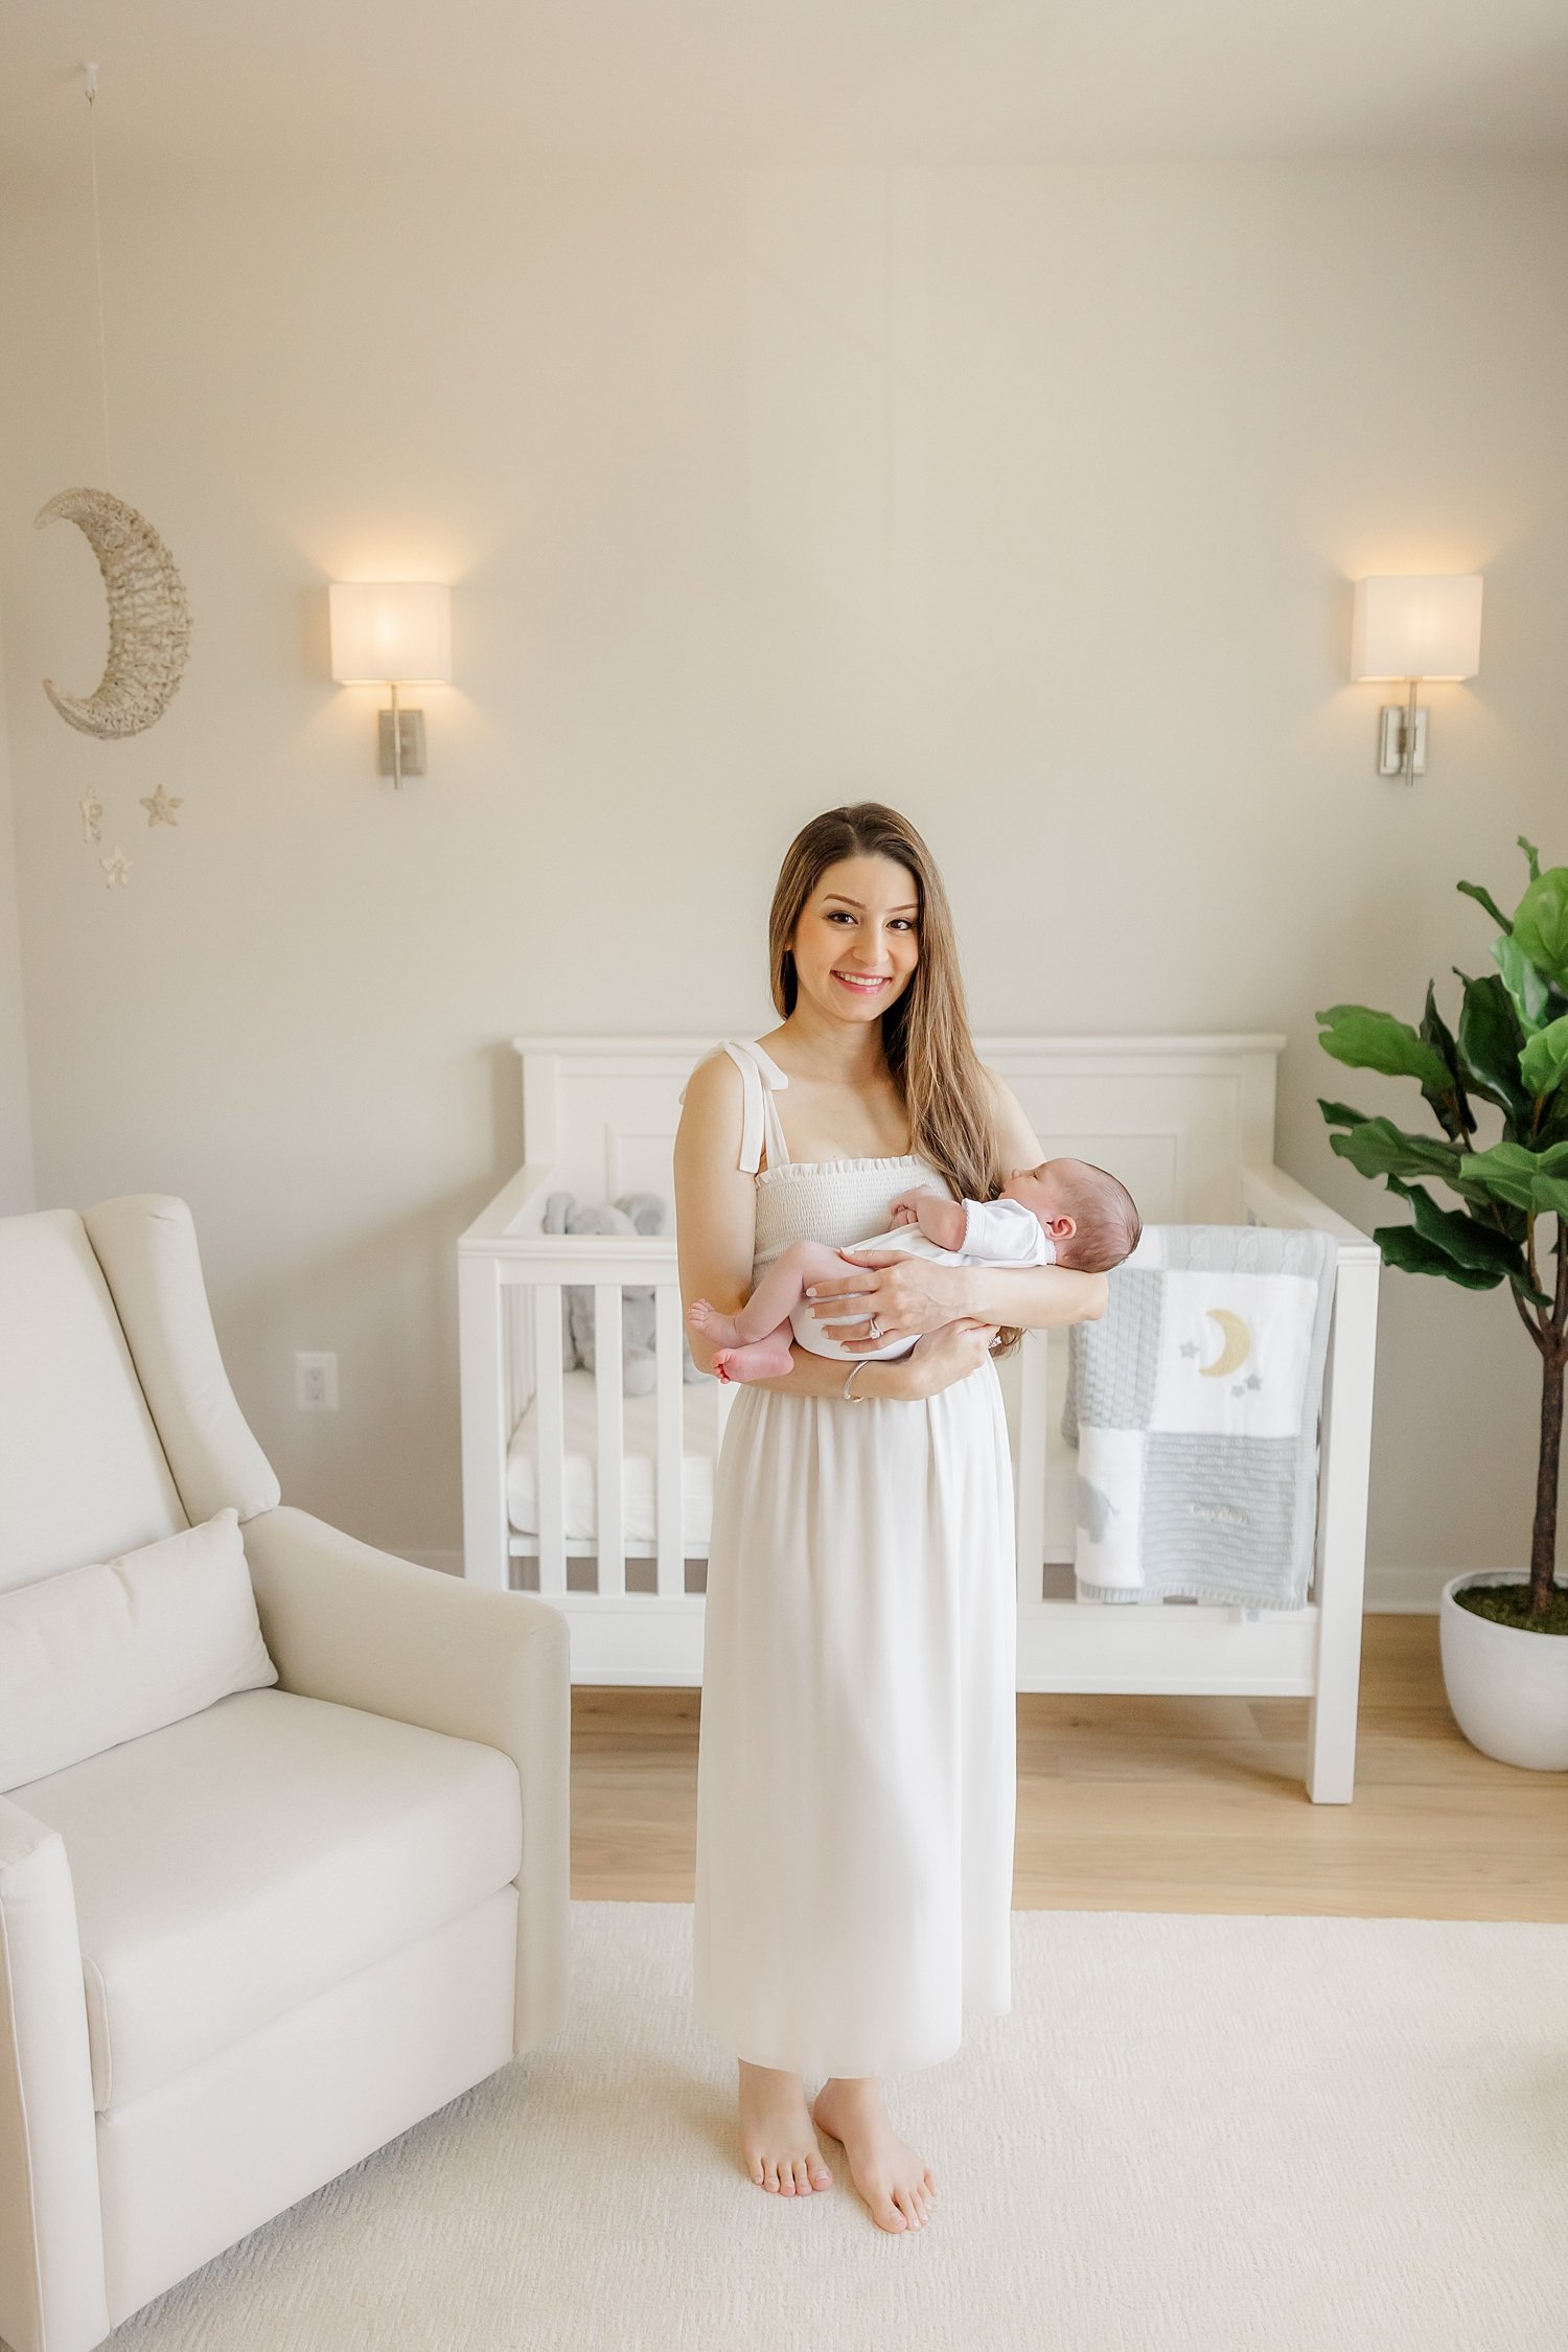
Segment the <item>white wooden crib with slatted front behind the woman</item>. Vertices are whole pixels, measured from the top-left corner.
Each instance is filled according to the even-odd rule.
[[[701,1684],[712,1463],[733,1390],[682,1383],[672,1143],[679,1089],[717,1035],[512,1044],[524,1167],[458,1242],[465,1573],[555,1602],[571,1623],[574,1682]],[[1018,1091],[1046,1152],[1112,1167],[1145,1223],[1316,1225],[1340,1244],[1305,1609],[1077,1599],[1074,1454],[1060,1437],[1065,1334],[1030,1331],[997,1367],[1018,1484],[1018,1689],[1309,1698],[1307,1795],[1347,1804],[1380,1254],[1274,1167],[1284,1037],[976,1044]],[[658,1192],[668,1230],[545,1235],[555,1190]],[[562,1284],[592,1284],[595,1352],[611,1367],[621,1287],[654,1287],[654,1395],[628,1399],[616,1378],[562,1371]]]

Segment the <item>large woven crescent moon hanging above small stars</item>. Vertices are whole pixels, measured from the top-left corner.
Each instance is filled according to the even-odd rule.
[[[190,649],[190,609],[174,557],[134,506],[106,489],[61,489],[33,517],[75,522],[99,557],[108,590],[108,661],[92,694],[45,677],[63,720],[92,736],[141,734],[169,708]]]

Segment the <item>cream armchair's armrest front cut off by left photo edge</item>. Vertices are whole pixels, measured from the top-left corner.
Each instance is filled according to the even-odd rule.
[[[0,2336],[108,2336],[99,2138],[75,1889],[59,1830],[0,1797]]]

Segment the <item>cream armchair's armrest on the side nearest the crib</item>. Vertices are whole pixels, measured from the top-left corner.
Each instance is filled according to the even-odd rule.
[[[395,1559],[280,1505],[244,1557],[280,1686],[501,1748],[522,1788],[517,2053],[567,2013],[571,1658],[559,1609]]]

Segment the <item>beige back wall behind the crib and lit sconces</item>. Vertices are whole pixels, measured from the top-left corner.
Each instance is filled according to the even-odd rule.
[[[1286,1030],[1284,1164],[1399,1216],[1314,1096],[1406,1094],[1312,1011],[1418,1011],[1486,964],[1455,880],[1512,898],[1521,830],[1568,861],[1568,176],[122,179],[113,487],[195,640],[120,746],[38,687],[101,656],[85,543],[31,529],[103,468],[82,200],[24,191],[0,235],[40,1200],[193,1204],[294,1501],[456,1548],[451,1244],[517,1155],[505,1037],[766,1023],[778,856],[849,795],[929,835],[976,1025]],[[1410,793],[1345,680],[1368,569],[1488,581]],[[374,572],[456,583],[402,797],[324,673],[322,583]],[[296,1348],[339,1352],[336,1418],[294,1414]],[[1521,1557],[1533,1362],[1497,1296],[1385,1279],[1382,1592]]]

